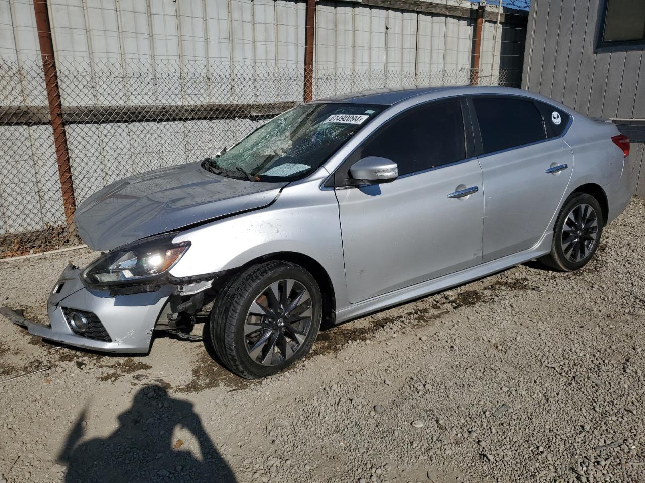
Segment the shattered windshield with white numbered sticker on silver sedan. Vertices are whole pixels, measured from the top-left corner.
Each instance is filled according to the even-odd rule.
[[[321,166],[382,109],[366,104],[297,106],[209,160],[205,167],[250,181],[297,180]]]

